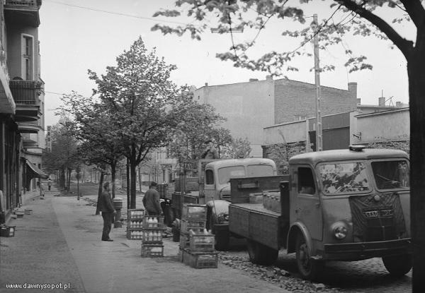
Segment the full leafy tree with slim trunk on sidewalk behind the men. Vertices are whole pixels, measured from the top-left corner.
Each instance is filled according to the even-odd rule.
[[[176,66],[159,59],[155,49],[148,52],[141,37],[116,61],[100,77],[89,70],[89,78],[108,116],[108,133],[118,138],[130,161],[130,208],[135,208],[136,167],[149,150],[165,145],[182,89],[169,80]]]

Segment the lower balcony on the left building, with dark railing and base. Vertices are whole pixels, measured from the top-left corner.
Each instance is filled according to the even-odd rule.
[[[11,80],[9,87],[16,104],[16,121],[37,121],[40,117],[41,83],[35,80]]]

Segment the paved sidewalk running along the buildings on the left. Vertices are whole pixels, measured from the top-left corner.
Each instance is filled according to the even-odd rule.
[[[102,217],[84,200],[96,196],[77,201],[54,197],[55,191],[24,205],[33,214],[15,221],[15,237],[0,238],[0,292],[40,292],[5,289],[11,283],[60,282],[70,285],[67,292],[285,292],[220,263],[217,269],[188,267],[171,239],[164,239],[164,258],[142,258],[140,241],[125,238],[125,225],[112,229],[113,242],[101,241]]]

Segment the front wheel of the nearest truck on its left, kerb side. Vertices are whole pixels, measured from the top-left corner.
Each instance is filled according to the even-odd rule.
[[[301,233],[297,234],[295,241],[295,255],[301,277],[305,280],[317,280],[324,263],[311,258],[307,243]]]

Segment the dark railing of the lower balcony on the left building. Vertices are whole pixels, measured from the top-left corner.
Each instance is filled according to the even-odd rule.
[[[16,104],[38,105],[41,83],[35,80],[11,80],[9,82]]]

